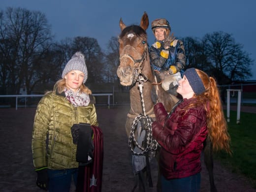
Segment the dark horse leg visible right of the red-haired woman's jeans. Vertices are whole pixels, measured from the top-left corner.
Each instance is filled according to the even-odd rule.
[[[213,149],[209,137],[204,141],[204,163],[209,173],[211,192],[217,192],[213,177]]]

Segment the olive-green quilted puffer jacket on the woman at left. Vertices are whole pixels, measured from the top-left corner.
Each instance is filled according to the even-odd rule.
[[[70,129],[73,124],[78,123],[98,126],[94,104],[74,107],[64,93],[56,95],[50,92],[41,98],[35,112],[32,130],[32,155],[35,169],[78,167],[76,145],[73,144]],[[48,140],[47,146],[46,140]]]

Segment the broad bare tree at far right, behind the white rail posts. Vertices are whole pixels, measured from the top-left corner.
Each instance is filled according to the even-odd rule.
[[[226,76],[230,81],[244,80],[252,76],[253,60],[242,51],[243,46],[235,43],[234,38],[225,32],[207,33],[202,39],[207,61],[211,63],[209,71],[222,82]],[[230,83],[230,82],[228,82]]]

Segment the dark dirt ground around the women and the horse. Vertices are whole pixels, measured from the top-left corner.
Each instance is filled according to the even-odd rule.
[[[133,187],[131,155],[125,121],[128,106],[96,106],[99,127],[104,134],[102,192],[130,192]],[[35,185],[31,134],[35,108],[0,109],[0,192],[40,192]],[[156,192],[157,163],[152,162]],[[214,162],[214,177],[219,192],[256,192],[246,178]],[[201,192],[209,192],[207,170],[202,163]]]

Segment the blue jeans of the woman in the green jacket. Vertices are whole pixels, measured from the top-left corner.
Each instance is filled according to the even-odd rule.
[[[48,169],[48,190],[49,192],[69,192],[72,177],[77,183],[78,168],[53,170]]]

